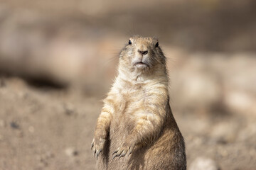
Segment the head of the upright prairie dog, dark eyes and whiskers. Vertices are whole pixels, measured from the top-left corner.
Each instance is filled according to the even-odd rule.
[[[134,36],[129,38],[119,58],[119,69],[137,74],[154,73],[155,69],[165,68],[164,57],[156,38]]]

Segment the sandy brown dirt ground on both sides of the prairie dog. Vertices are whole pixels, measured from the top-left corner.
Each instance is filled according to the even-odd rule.
[[[95,169],[90,143],[101,98],[1,77],[0,169]],[[255,118],[175,110],[174,116],[186,140],[188,166],[196,157],[209,157],[221,169],[255,169]]]

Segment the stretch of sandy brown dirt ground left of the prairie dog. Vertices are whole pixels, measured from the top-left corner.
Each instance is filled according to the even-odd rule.
[[[17,78],[1,84],[0,169],[95,169],[97,98],[37,89]]]

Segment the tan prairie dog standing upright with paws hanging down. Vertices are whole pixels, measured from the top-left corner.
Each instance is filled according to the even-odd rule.
[[[186,169],[185,144],[171,113],[168,84],[159,41],[130,38],[97,119],[92,140],[97,169]]]

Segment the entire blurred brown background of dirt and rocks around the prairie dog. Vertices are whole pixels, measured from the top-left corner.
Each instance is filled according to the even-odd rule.
[[[0,0],[0,169],[95,169],[90,143],[132,35],[168,58],[188,170],[255,170],[256,1]]]

